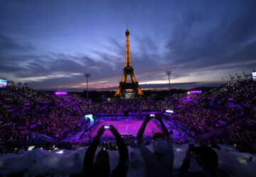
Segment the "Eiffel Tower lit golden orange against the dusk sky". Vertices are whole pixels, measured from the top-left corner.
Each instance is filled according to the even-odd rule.
[[[132,68],[132,61],[131,61],[131,53],[129,47],[129,30],[127,26],[127,30],[125,31],[126,35],[126,52],[125,52],[125,66],[124,66],[124,74],[122,76],[122,81],[119,82],[119,87],[114,93],[114,96],[122,96],[124,91],[127,89],[132,89],[137,96],[144,96],[142,89],[140,89],[138,82],[134,76],[134,69]],[[127,76],[130,76],[130,79],[127,79]]]

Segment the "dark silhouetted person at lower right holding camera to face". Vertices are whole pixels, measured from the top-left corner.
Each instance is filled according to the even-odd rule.
[[[193,145],[193,144],[192,144]],[[188,172],[190,166],[191,155],[194,156],[198,164],[203,168],[203,171]],[[186,158],[183,159],[183,164],[179,169],[178,176],[228,176],[223,169],[218,168],[218,155],[216,152],[206,145],[200,147],[191,146],[186,152]]]

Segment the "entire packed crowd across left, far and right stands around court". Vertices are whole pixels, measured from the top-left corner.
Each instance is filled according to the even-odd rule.
[[[178,98],[164,101],[114,100],[85,102],[80,93],[55,96],[53,92],[37,91],[9,86],[0,89],[0,141],[26,141],[29,132],[61,139],[78,129],[86,113],[124,115],[129,113],[139,118],[142,112],[174,110],[165,115],[179,125],[193,131],[198,141],[209,139],[228,144],[246,144],[255,151],[255,90],[251,80],[231,81],[201,94],[179,94]],[[239,105],[234,108],[228,107]],[[213,132],[222,132],[222,135]],[[214,136],[211,136],[214,135]]]

